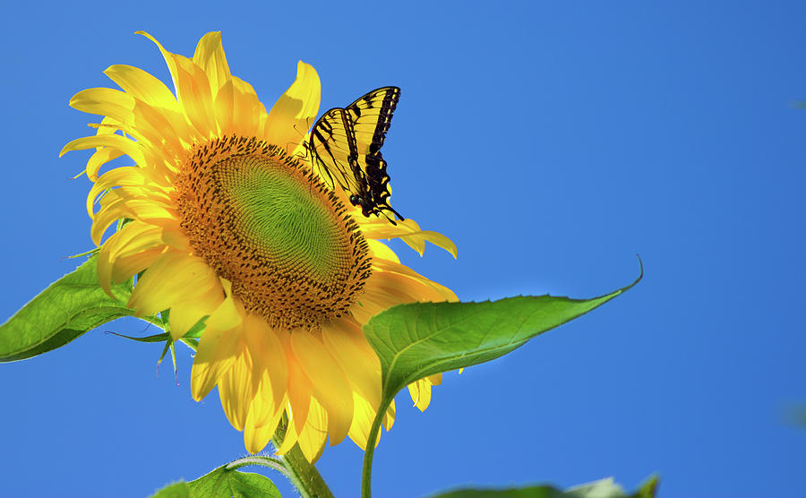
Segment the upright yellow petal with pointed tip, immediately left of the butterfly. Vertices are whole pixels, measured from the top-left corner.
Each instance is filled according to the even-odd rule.
[[[313,65],[299,61],[296,81],[286,90],[269,112],[265,137],[285,150],[294,150],[319,112],[322,90],[319,74]]]

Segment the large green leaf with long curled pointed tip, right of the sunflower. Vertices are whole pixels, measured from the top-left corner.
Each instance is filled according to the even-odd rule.
[[[637,284],[592,299],[507,297],[484,303],[397,305],[364,325],[381,358],[383,399],[428,375],[503,356],[544,331],[604,305]]]

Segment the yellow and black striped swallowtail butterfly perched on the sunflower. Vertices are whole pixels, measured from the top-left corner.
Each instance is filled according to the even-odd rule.
[[[331,188],[338,183],[365,217],[382,214],[392,224],[394,216],[384,211],[404,218],[389,205],[390,177],[381,146],[399,99],[398,87],[383,87],[347,107],[334,107],[316,121],[304,144]]]

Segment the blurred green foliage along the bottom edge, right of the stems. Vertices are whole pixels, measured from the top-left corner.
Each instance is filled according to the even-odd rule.
[[[657,477],[650,477],[634,494],[626,494],[612,477],[587,485],[579,485],[565,491],[550,485],[536,485],[508,489],[458,489],[433,498],[653,498]]]

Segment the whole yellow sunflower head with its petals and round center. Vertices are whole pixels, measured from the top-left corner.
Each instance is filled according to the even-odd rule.
[[[247,451],[262,451],[284,416],[280,454],[298,443],[315,461],[328,437],[365,449],[381,367],[362,325],[393,305],[457,300],[378,239],[398,237],[421,255],[426,240],[454,257],[456,246],[410,219],[365,218],[323,181],[303,145],[320,104],[311,65],[297,64],[296,81],[267,113],[229,72],[220,33],[201,38],[193,58],[140,34],[159,47],[176,94],[141,69],[109,67],[122,90],[71,99],[104,117],[90,125],[94,135],[61,152],[95,150],[87,210],[100,286],[110,293],[110,282],[139,275],[129,307],[140,316],[169,310],[174,340],[203,323],[193,399],[218,386]],[[134,164],[99,175],[122,156]],[[440,382],[435,375],[409,386],[417,408]],[[387,430],[393,421],[394,405]]]

